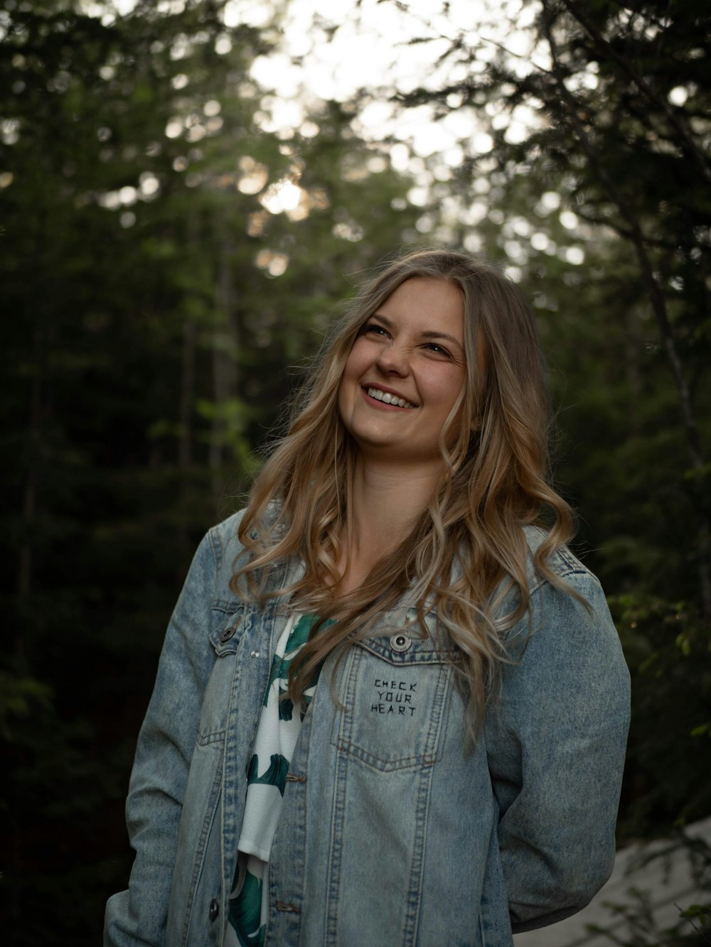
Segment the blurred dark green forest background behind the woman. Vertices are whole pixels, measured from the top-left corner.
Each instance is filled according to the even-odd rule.
[[[255,25],[239,4],[0,0],[0,898],[16,947],[99,942],[192,551],[242,504],[341,301],[403,245],[483,252],[536,308],[555,482],[632,674],[620,842],[711,812],[705,5],[507,2],[491,22],[471,5],[462,26],[432,0],[408,44],[431,56],[420,83],[369,85],[364,61],[348,100],[296,112],[264,81],[289,6]],[[316,17],[309,43],[344,28]],[[419,147],[374,132],[379,114],[413,116]]]

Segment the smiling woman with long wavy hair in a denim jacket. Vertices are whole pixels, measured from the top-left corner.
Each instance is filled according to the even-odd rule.
[[[629,675],[545,438],[507,279],[426,250],[358,296],[192,563],[105,943],[504,947],[591,899]]]

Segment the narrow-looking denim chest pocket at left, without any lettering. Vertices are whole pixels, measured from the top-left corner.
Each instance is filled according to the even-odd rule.
[[[214,665],[203,696],[197,742],[224,740],[237,663],[245,631],[246,608],[234,602],[212,605],[212,627],[208,647],[214,653]]]

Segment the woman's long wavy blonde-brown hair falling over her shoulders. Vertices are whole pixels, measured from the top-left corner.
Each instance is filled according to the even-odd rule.
[[[463,295],[465,384],[440,436],[443,473],[427,509],[359,588],[337,597],[357,451],[338,415],[338,387],[358,332],[412,277],[444,280]],[[330,652],[342,654],[406,599],[423,632],[425,612],[434,611],[438,634],[456,646],[455,666],[468,686],[467,723],[476,736],[506,659],[503,636],[529,604],[523,526],[545,520],[535,565],[565,587],[547,565],[573,533],[570,508],[546,479],[547,427],[534,317],[510,279],[465,254],[420,250],[394,259],[364,286],[301,388],[288,433],[255,480],[239,530],[248,557],[232,577],[233,591],[261,602],[291,593],[300,609],[323,619],[292,663],[294,702]],[[271,587],[274,567],[294,560],[304,565],[301,578],[288,588]],[[513,605],[501,614],[504,599]],[[326,618],[336,621],[326,626]]]

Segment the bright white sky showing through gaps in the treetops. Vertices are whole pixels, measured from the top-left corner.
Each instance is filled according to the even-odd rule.
[[[130,13],[135,6],[136,0],[116,0],[114,5],[92,3],[87,9],[106,22],[117,13]],[[158,4],[172,15],[183,6],[183,0],[159,0]],[[539,0],[449,0],[447,4],[416,0],[407,5],[396,0],[228,0],[222,15],[229,29],[254,27],[266,42],[268,51],[250,65],[251,90],[246,88],[250,83],[245,84],[245,94],[258,97],[257,128],[282,139],[288,148],[297,133],[301,138],[319,135],[318,116],[324,101],[348,103],[357,139],[373,143],[381,155],[384,149],[392,169],[410,177],[408,202],[423,208],[417,230],[432,232],[440,241],[455,241],[459,229],[468,227],[461,239],[476,252],[482,247],[476,228],[491,212],[486,175],[492,167],[489,155],[493,155],[494,138],[500,134],[512,146],[524,142],[532,129],[540,127],[542,113],[530,102],[509,107],[501,98],[489,98],[475,103],[465,90],[451,91],[438,100],[437,90],[456,90],[458,82],[486,80],[494,61],[499,67],[505,63],[516,77],[549,68],[549,50],[546,45],[535,45],[532,28],[539,9]],[[226,32],[214,48],[227,56],[231,44]],[[182,45],[178,42],[173,44],[171,58],[180,60],[189,51],[187,40]],[[587,87],[594,88],[593,66],[575,76],[575,81],[582,78]],[[189,81],[187,59],[185,72],[173,77],[173,88],[181,88],[178,80]],[[402,97],[415,90],[425,100],[405,104]],[[215,105],[219,110],[220,103]],[[165,134],[170,138],[185,133],[194,143],[203,125],[207,129],[210,123],[221,124],[222,117],[216,114],[186,132],[183,118],[175,116]],[[381,155],[368,160],[368,170],[379,170],[372,163],[383,162]],[[438,188],[447,187],[472,161],[477,162],[478,172],[469,188],[458,196]],[[291,220],[301,220],[313,205],[299,186],[296,168],[271,182],[263,164],[241,167],[241,171],[238,188],[246,194],[260,193],[260,203],[269,214],[285,213]],[[438,206],[436,220],[427,209],[432,201]],[[527,257],[518,231],[508,232],[512,227],[516,230],[516,222],[500,223],[509,273],[519,279]],[[569,263],[580,265],[584,252],[570,244],[589,236],[584,229],[566,226],[571,240],[564,237],[563,245],[537,230],[535,249],[558,252]],[[349,230],[353,239],[357,233],[357,228]]]

